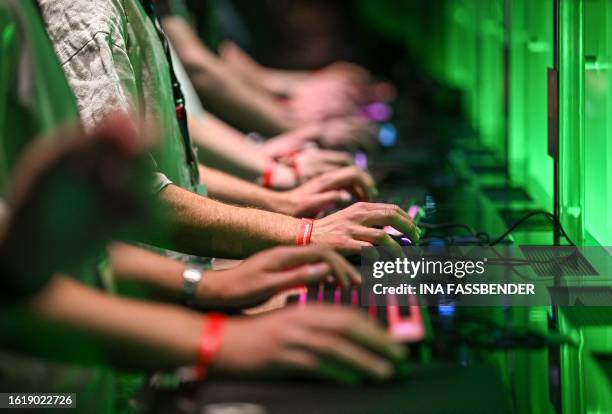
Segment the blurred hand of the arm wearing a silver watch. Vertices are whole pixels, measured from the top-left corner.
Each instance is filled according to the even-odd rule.
[[[206,273],[197,299],[205,308],[244,309],[283,290],[322,282],[349,287],[361,284],[361,276],[331,249],[275,247],[234,268]]]

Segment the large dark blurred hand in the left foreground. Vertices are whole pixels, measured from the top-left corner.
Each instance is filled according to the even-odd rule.
[[[148,217],[151,142],[128,118],[110,116],[91,134],[57,135],[30,145],[11,181],[4,252],[33,274],[64,270]]]

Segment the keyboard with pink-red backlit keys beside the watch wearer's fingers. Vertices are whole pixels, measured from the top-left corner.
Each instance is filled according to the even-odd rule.
[[[299,293],[290,296],[287,303],[308,306],[309,303],[330,303],[361,307],[372,318],[386,326],[393,338],[399,342],[414,343],[425,338],[425,325],[417,297],[414,295],[374,295],[367,305],[362,305],[360,288],[341,288],[331,284],[302,287]]]

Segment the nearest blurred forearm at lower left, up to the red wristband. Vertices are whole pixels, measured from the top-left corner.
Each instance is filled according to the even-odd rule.
[[[3,344],[34,356],[120,368],[166,369],[197,360],[204,318],[177,306],[106,295],[55,277],[3,323]],[[29,338],[36,338],[31,341]]]

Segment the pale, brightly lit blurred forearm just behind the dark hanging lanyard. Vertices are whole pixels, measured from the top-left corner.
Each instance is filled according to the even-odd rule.
[[[204,119],[190,117],[189,132],[202,149],[199,156],[204,164],[245,180],[261,177],[268,157],[244,134],[214,115],[206,114]]]

